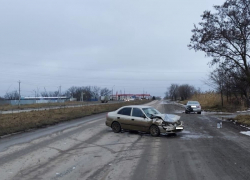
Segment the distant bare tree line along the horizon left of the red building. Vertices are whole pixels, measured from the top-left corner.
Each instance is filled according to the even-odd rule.
[[[97,86],[72,86],[69,89],[67,89],[64,93],[60,94],[60,91],[43,91],[41,93],[37,93],[37,97],[59,97],[59,96],[67,96],[76,98],[78,101],[81,99],[81,96],[83,95],[83,100],[90,100],[90,99],[98,99],[99,96],[106,96],[111,95],[111,90],[108,88],[100,88]],[[0,98],[1,99],[1,98]],[[8,99],[8,100],[17,100],[19,99],[19,93],[17,90],[12,92],[7,92],[4,95],[4,98],[2,99]]]

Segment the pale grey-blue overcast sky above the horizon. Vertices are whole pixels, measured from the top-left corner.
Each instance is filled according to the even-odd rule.
[[[187,48],[204,10],[223,0],[0,0],[0,96],[98,86],[163,96],[208,90],[209,58]]]

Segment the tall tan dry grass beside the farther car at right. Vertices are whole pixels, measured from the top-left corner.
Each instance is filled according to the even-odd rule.
[[[202,109],[207,111],[229,111],[233,112],[236,110],[246,109],[244,106],[234,105],[227,102],[226,97],[224,97],[224,105],[221,105],[221,96],[217,93],[203,93],[195,94],[189,100],[199,101]],[[183,101],[186,104],[188,100]]]

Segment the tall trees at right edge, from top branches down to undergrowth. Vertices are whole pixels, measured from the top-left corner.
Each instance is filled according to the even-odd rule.
[[[214,6],[214,13],[204,11],[202,22],[194,26],[188,47],[211,57],[217,68],[208,81],[227,101],[249,106],[250,94],[250,0],[226,0]]]

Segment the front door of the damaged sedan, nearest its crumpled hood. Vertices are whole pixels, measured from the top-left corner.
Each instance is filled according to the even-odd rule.
[[[133,130],[147,131],[151,125],[151,121],[145,116],[140,108],[133,108],[131,124]]]

